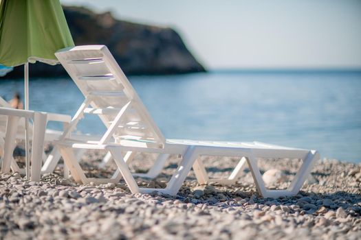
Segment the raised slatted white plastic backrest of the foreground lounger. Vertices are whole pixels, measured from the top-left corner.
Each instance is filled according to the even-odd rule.
[[[91,99],[92,108],[85,112],[99,115],[108,129],[116,121],[113,139],[164,144],[162,132],[105,45],[69,47],[55,55],[83,95]]]

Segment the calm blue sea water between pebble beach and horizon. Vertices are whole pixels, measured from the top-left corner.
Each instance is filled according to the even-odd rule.
[[[130,77],[167,138],[263,141],[361,162],[361,72],[215,72]],[[0,82],[0,95],[23,80]],[[30,109],[74,115],[72,80],[30,79]],[[78,130],[104,131],[96,117]],[[59,125],[52,125],[60,128]]]

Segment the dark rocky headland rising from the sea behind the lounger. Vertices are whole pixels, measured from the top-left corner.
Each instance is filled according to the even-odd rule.
[[[205,71],[171,28],[114,19],[110,12],[96,14],[86,8],[63,7],[76,45],[104,44],[124,73],[176,74]],[[66,75],[60,65],[30,64],[30,77]],[[23,77],[15,67],[6,78]]]

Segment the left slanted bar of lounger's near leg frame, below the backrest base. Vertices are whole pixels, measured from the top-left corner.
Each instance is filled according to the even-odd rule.
[[[127,163],[125,163],[124,158],[122,157],[122,151],[120,148],[112,148],[109,149],[111,155],[113,156],[116,165],[124,178],[124,181],[127,183],[131,193],[139,193],[139,187],[137,182],[135,182],[133,176],[131,175],[131,171],[129,171],[129,167]]]

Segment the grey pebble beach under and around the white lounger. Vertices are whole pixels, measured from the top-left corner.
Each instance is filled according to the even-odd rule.
[[[113,163],[98,167],[101,152],[85,154],[87,176],[107,177]],[[177,156],[143,187],[164,187]],[[210,177],[228,176],[236,158],[204,159]],[[138,156],[144,172],[153,163]],[[287,187],[298,160],[259,160],[269,188]],[[19,173],[0,175],[0,239],[360,239],[361,164],[322,159],[294,197],[263,198],[245,169],[237,184],[199,185],[191,172],[175,196],[131,194],[127,185],[76,184],[63,178],[60,164],[41,182]]]

